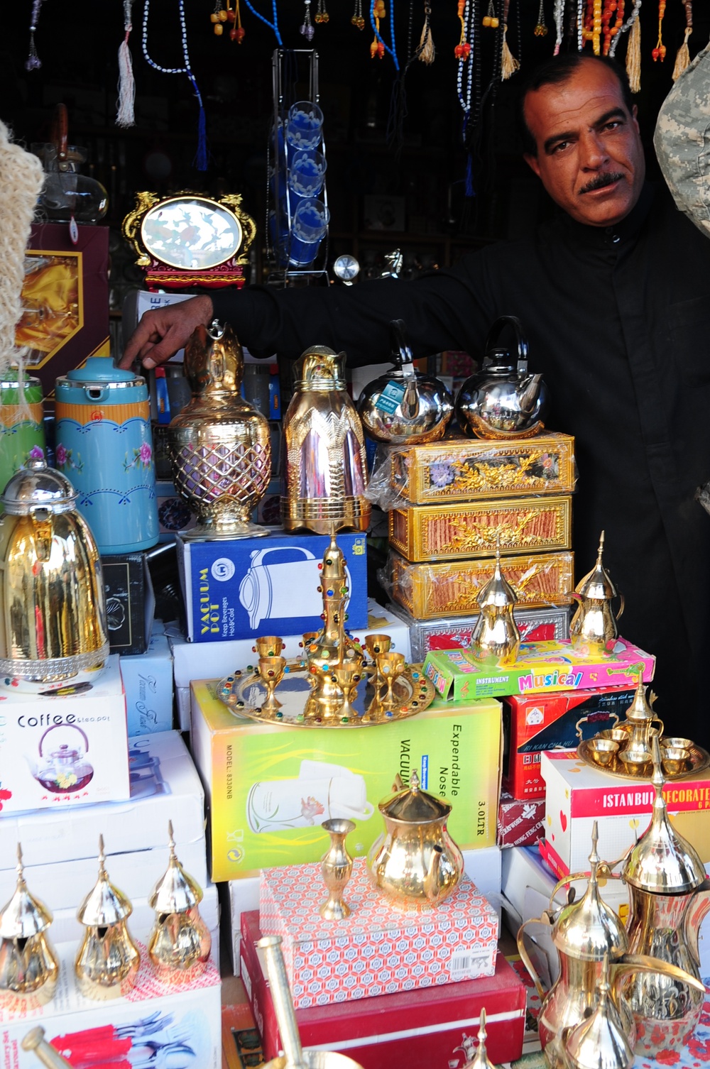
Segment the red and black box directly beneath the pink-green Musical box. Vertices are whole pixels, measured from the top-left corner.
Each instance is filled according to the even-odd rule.
[[[622,721],[633,699],[628,686],[503,698],[503,789],[514,799],[543,799],[540,754],[576,749],[583,739],[613,727],[615,715]]]

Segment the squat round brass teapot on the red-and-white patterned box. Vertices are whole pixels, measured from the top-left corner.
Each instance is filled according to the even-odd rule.
[[[375,887],[395,908],[438,905],[463,873],[463,854],[446,830],[451,806],[422,791],[413,772],[410,786],[381,802],[380,812],[385,832],[368,854]]]

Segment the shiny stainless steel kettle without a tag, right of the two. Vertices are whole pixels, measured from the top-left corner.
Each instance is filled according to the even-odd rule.
[[[518,356],[495,346],[500,331],[515,331]],[[468,437],[527,438],[542,431],[547,391],[542,375],[527,373],[527,341],[515,315],[500,315],[485,339],[483,367],[459,390],[456,413]]]

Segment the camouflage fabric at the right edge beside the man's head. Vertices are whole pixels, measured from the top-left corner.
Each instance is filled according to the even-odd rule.
[[[677,206],[710,237],[710,45],[665,98],[653,145]]]

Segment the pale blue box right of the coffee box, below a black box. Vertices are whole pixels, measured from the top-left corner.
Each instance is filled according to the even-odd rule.
[[[151,635],[145,653],[121,657],[128,738],[172,728],[172,653],[165,635]]]

